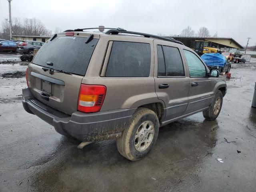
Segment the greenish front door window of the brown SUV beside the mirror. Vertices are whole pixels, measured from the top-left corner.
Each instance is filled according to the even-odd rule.
[[[206,68],[202,61],[191,51],[184,50],[190,77],[205,77]]]

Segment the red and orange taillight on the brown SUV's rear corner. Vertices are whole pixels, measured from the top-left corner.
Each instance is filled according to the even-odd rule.
[[[86,113],[100,111],[105,95],[106,87],[103,85],[81,84],[77,110]]]

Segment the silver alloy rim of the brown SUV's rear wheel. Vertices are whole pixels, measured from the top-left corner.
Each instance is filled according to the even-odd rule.
[[[137,151],[144,151],[150,146],[154,138],[154,124],[151,121],[144,121],[138,127],[135,137],[134,146]]]

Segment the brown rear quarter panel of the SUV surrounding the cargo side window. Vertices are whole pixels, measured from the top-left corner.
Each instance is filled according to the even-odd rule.
[[[148,43],[151,46],[151,63],[149,77],[101,77],[100,71],[104,62],[104,56],[108,42],[128,41]],[[108,55],[105,58],[108,59]],[[104,62],[106,65],[107,62]],[[138,106],[160,102],[154,88],[154,48],[150,38],[138,38],[136,36],[100,35],[100,40],[94,50],[84,84],[99,84],[106,86],[106,97],[101,111],[118,108],[136,108]]]

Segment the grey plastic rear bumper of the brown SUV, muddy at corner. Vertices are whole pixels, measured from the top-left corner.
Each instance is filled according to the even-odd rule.
[[[31,94],[29,88],[22,89],[23,107],[31,114],[54,126],[62,135],[70,135],[81,141],[98,141],[117,138],[122,134],[136,108],[117,109],[96,113],[74,112],[71,116],[43,104]]]

